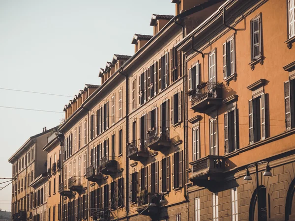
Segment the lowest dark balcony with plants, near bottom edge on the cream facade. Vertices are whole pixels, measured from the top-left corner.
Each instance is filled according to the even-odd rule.
[[[157,217],[158,202],[158,193],[147,193],[143,191],[138,197],[136,211],[143,216]],[[150,203],[154,203],[156,206],[150,206]]]

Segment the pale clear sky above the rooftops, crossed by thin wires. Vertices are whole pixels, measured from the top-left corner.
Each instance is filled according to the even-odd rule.
[[[0,88],[74,96],[114,54],[133,55],[134,33],[152,34],[151,15],[175,14],[171,0],[0,0]],[[63,111],[70,97],[0,89],[0,106]],[[30,137],[59,124],[63,113],[0,107],[0,177]],[[0,183],[5,180],[0,179]],[[0,187],[4,187],[0,184]],[[11,210],[11,185],[0,208]]]

